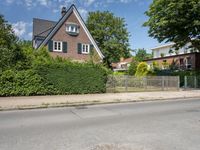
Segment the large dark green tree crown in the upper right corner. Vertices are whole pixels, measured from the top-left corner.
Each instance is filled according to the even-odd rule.
[[[146,12],[149,35],[159,42],[174,42],[175,48],[191,43],[200,51],[200,1],[153,0]]]

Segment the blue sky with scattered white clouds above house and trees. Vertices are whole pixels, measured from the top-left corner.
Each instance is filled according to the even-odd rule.
[[[150,49],[159,45],[148,36],[148,28],[142,27],[147,20],[144,12],[152,0],[0,0],[0,14],[13,25],[15,33],[22,39],[32,37],[32,19],[42,18],[57,21],[62,6],[76,5],[84,19],[89,11],[110,11],[125,18],[130,32],[132,49]],[[149,51],[150,52],[150,51]]]

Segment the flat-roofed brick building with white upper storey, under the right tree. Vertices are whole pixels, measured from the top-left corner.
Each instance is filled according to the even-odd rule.
[[[152,48],[153,58],[144,61],[150,66],[157,62],[162,69],[167,69],[170,66],[178,70],[200,69],[200,53],[191,52],[190,44],[178,51],[174,50],[173,45],[170,43]]]

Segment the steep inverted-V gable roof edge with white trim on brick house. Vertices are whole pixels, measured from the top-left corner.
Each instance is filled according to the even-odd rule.
[[[79,12],[78,12],[78,10],[77,10],[77,8],[75,7],[74,4],[67,10],[67,12],[65,13],[65,15],[63,15],[63,17],[57,22],[57,24],[53,27],[53,29],[50,30],[50,32],[48,33],[48,35],[43,40],[43,42],[39,45],[38,48],[41,48],[42,46],[44,46],[44,45],[46,45],[48,43],[48,41],[54,36],[54,34],[58,31],[58,29],[62,26],[62,24],[65,22],[65,20],[69,17],[69,15],[72,12],[74,12],[75,16],[77,17],[78,21],[80,22],[81,26],[83,27],[83,30],[85,31],[86,35],[88,36],[88,38],[92,42],[94,48],[97,50],[97,53],[103,59],[104,55],[102,54],[102,52],[100,51],[99,47],[97,46],[94,38],[92,37],[92,35],[88,31],[83,18],[79,14]]]

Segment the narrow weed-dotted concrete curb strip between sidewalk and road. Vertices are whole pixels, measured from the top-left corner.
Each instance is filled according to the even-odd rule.
[[[140,100],[111,100],[111,101],[84,101],[74,103],[43,103],[41,105],[21,105],[16,107],[0,107],[0,111],[14,111],[14,110],[28,110],[28,109],[47,109],[47,108],[59,108],[59,107],[77,107],[77,106],[89,106],[89,105],[102,105],[102,104],[120,104],[120,103],[133,103],[133,102],[155,102],[155,101],[172,101],[172,100],[190,100],[200,99],[197,97],[178,97],[178,98],[156,98],[156,99],[140,99]]]

